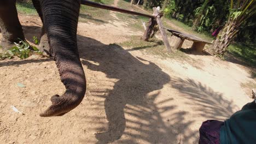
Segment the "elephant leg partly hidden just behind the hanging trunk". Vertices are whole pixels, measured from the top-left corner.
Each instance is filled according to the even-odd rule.
[[[34,8],[36,8],[37,10],[37,13],[43,23],[43,27],[42,27],[42,32],[41,32],[41,35],[40,35],[40,43],[39,43],[39,50],[43,52],[43,54],[45,56],[48,56],[50,57],[51,56],[51,53],[50,53],[50,46],[49,46],[49,41],[48,41],[48,38],[47,38],[47,33],[46,33],[46,30],[44,28],[44,18],[43,18],[43,12],[42,12],[42,8],[41,8],[41,5],[40,5],[40,1],[39,0],[32,0],[33,2],[33,5],[34,5]]]

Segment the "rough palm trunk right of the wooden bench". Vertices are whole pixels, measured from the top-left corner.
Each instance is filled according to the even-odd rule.
[[[231,41],[236,37],[240,24],[237,20],[229,20],[222,31],[219,32],[216,40],[213,42],[213,54],[223,56],[226,48],[230,45]]]

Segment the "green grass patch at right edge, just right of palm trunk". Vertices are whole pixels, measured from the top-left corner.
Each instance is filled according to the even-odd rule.
[[[231,44],[228,47],[231,55],[242,59],[247,65],[256,67],[256,47],[242,44]]]

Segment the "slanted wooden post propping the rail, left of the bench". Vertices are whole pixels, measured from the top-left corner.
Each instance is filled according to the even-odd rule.
[[[155,7],[153,8],[153,11],[154,11],[154,15],[156,16],[156,22],[158,23],[160,33],[162,35],[162,40],[164,41],[165,47],[166,47],[168,52],[172,52],[172,49],[171,49],[171,46],[169,44],[167,35],[165,33],[164,26],[162,25],[161,16],[159,15],[159,11]]]

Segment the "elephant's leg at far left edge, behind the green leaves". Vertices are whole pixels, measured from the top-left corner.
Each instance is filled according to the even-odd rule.
[[[15,3],[16,0],[0,1],[0,28],[2,32],[0,45],[3,50],[14,46],[14,42],[18,43],[19,39],[25,40]]]

